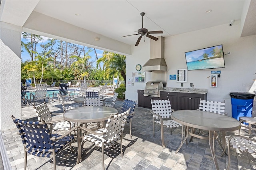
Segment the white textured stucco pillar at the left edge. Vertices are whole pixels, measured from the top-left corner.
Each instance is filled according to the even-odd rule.
[[[0,128],[14,128],[11,115],[21,119],[20,39],[17,29],[0,28]]]

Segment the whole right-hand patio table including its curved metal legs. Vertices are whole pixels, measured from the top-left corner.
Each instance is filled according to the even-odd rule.
[[[225,134],[226,131],[233,131],[238,130],[241,127],[241,124],[239,121],[232,117],[228,117],[225,115],[220,115],[217,113],[212,112],[206,112],[206,111],[197,111],[197,110],[179,110],[174,111],[172,113],[172,119],[174,121],[177,121],[178,123],[181,123],[182,125],[185,125],[185,138],[182,139],[181,144],[179,148],[176,150],[176,153],[180,150],[181,146],[184,144],[186,139],[188,138],[188,134],[194,137],[200,138],[197,134],[193,134],[188,131],[189,127],[192,128],[198,128],[202,130],[209,130],[209,145],[212,152],[212,158],[214,160],[214,164],[216,169],[218,170],[218,162],[215,157],[214,153],[214,132],[215,131],[222,131],[222,144],[225,144]],[[183,136],[182,136],[183,138]],[[223,146],[222,146],[223,148]],[[226,148],[226,147],[224,147]]]

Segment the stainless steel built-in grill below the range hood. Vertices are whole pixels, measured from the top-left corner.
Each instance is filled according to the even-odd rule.
[[[148,81],[145,86],[144,96],[160,97],[160,89],[163,89],[162,81]]]

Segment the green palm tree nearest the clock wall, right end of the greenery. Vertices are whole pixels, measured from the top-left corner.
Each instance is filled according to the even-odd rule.
[[[126,81],[126,56],[108,51],[103,52],[103,57],[98,59],[97,67],[103,63],[104,76],[109,79],[111,75],[120,74]]]

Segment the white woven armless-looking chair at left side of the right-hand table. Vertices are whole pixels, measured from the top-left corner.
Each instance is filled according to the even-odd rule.
[[[164,144],[164,127],[171,128],[171,134],[172,134],[172,128],[182,127],[182,124],[174,121],[174,120],[164,120],[165,118],[171,118],[172,115],[172,108],[169,99],[168,100],[152,100],[151,99],[151,105],[152,105],[152,111],[153,114],[153,135],[155,136],[155,123],[160,124],[161,127],[161,140],[162,140],[162,146],[165,148]],[[159,120],[155,120],[159,119]]]

